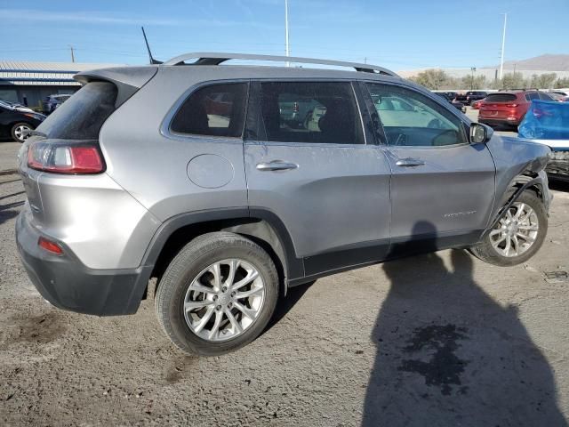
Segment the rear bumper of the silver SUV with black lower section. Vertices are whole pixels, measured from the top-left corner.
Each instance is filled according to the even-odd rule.
[[[132,314],[138,310],[151,267],[89,269],[63,244],[62,255],[37,246],[40,236],[29,221],[29,212],[24,210],[16,222],[20,258],[37,291],[48,302],[63,310],[97,316]]]

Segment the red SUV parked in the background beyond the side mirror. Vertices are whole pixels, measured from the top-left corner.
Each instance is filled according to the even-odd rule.
[[[478,122],[490,126],[517,127],[532,100],[553,101],[549,94],[536,90],[490,93],[480,105]]]

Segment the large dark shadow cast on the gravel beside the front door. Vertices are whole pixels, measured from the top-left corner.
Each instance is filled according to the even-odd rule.
[[[432,253],[383,265],[390,287],[371,336],[362,425],[567,426],[517,307],[477,285],[469,254],[453,250],[451,263]]]

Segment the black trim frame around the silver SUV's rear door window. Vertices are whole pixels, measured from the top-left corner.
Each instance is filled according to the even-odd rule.
[[[278,78],[252,78],[251,79],[251,86],[257,85],[255,89],[250,89],[250,93],[255,93],[255,99],[251,99],[251,103],[255,103],[255,106],[251,108],[251,111],[255,111],[256,117],[254,120],[252,118],[246,117],[245,125],[250,123],[260,123],[262,121],[262,112],[260,110],[260,84],[261,83],[348,83],[352,89],[352,95],[354,96],[354,100],[356,101],[357,106],[357,114],[359,114],[359,122],[362,130],[362,137],[364,138],[363,144],[338,144],[338,143],[329,143],[329,142],[295,142],[295,141],[268,141],[267,132],[265,130],[265,126],[260,125],[260,134],[257,134],[256,138],[252,139],[245,139],[244,141],[249,144],[257,144],[257,145],[275,145],[275,146],[287,146],[287,147],[337,147],[337,148],[365,148],[369,147],[370,145],[374,145],[371,141],[368,141],[368,138],[371,137],[369,133],[365,131],[365,121],[363,115],[364,110],[359,104],[360,97],[358,97],[356,87],[357,79],[354,78],[310,78],[310,77],[300,77],[300,78],[293,78],[293,77],[278,77]],[[249,113],[249,111],[247,112]],[[247,129],[244,131],[245,135],[248,131],[252,131],[251,129]]]

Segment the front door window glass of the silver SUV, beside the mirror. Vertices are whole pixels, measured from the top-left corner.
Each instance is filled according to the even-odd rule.
[[[366,85],[389,145],[434,147],[466,142],[461,119],[437,102],[398,86]]]

